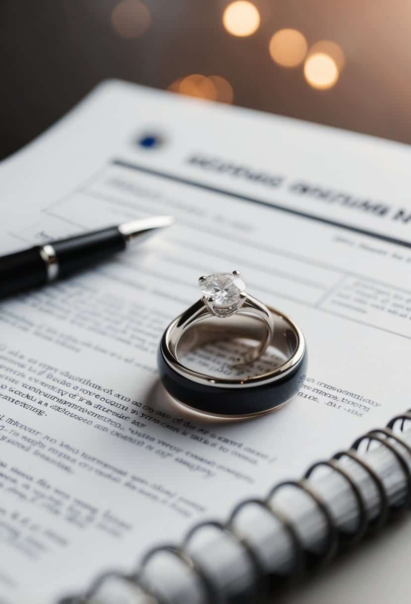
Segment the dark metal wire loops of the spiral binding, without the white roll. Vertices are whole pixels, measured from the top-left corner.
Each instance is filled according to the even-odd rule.
[[[401,437],[399,437],[393,431],[395,425],[398,422],[401,422],[400,431],[402,432],[404,430],[404,425],[407,420],[411,421],[411,410],[408,410],[404,414],[393,417],[391,421],[387,424],[386,428],[374,429],[359,437],[354,441],[351,448],[347,451],[337,452],[333,455],[330,460],[317,461],[316,463],[313,463],[312,466],[307,469],[306,473],[304,474],[304,477],[301,478],[301,480],[283,481],[275,485],[269,491],[265,499],[252,498],[240,502],[239,504],[237,504],[236,507],[234,507],[233,511],[231,512],[228,518],[228,521],[225,523],[214,520],[199,522],[199,524],[196,524],[189,530],[181,546],[160,545],[158,547],[152,548],[148,551],[148,553],[145,554],[145,556],[143,556],[142,561],[139,565],[139,570],[135,574],[128,576],[121,575],[121,573],[111,574],[116,574],[117,576],[124,577],[127,580],[133,580],[134,583],[141,588],[143,593],[146,593],[148,596],[154,598],[155,600],[157,600],[157,602],[160,603],[162,600],[161,597],[157,596],[157,594],[155,593],[155,588],[151,587],[147,589],[145,587],[142,581],[142,573],[146,564],[148,564],[149,560],[155,554],[160,551],[169,551],[175,554],[175,556],[177,556],[178,558],[180,558],[180,560],[184,564],[186,564],[187,567],[190,568],[190,570],[197,574],[204,590],[204,601],[208,604],[219,603],[221,602],[221,598],[219,597],[218,586],[215,585],[212,577],[210,577],[209,573],[207,573],[207,571],[202,568],[201,564],[199,564],[195,560],[195,558],[191,554],[188,554],[186,551],[190,539],[192,539],[192,536],[198,530],[200,530],[202,527],[214,526],[227,533],[230,538],[232,538],[237,544],[244,548],[248,559],[251,562],[256,579],[254,581],[253,597],[247,599],[246,601],[267,601],[267,597],[269,594],[268,586],[272,586],[272,582],[269,581],[270,577],[266,576],[262,563],[260,562],[256,551],[254,551],[253,546],[247,541],[246,538],[243,538],[242,535],[239,535],[239,533],[237,533],[234,528],[234,519],[236,518],[237,513],[239,513],[240,509],[242,509],[248,504],[254,503],[264,507],[266,510],[268,510],[269,513],[272,514],[272,516],[274,516],[279,522],[281,522],[284,528],[284,532],[286,532],[290,538],[290,542],[292,543],[294,551],[294,567],[293,570],[290,571],[289,580],[295,582],[296,579],[300,579],[300,577],[304,575],[304,571],[306,570],[306,568],[322,567],[322,565],[330,561],[330,559],[333,558],[337,554],[337,552],[342,549],[342,547],[353,545],[354,543],[359,542],[360,539],[362,539],[366,535],[366,533],[371,533],[375,530],[380,529],[386,523],[389,516],[393,513],[399,512],[400,510],[411,509],[411,446],[409,446],[403,439],[401,439]],[[399,445],[401,445],[403,451],[406,452],[410,458],[407,459],[402,452],[398,451],[398,449],[395,448],[389,442],[390,439],[394,440]],[[386,492],[383,481],[378,476],[377,472],[374,471],[371,465],[358,452],[361,443],[367,440],[368,445],[366,447],[366,451],[368,451],[371,442],[377,442],[380,446],[384,446],[389,449],[389,451],[391,451],[391,453],[395,456],[396,460],[398,461],[399,466],[401,467],[401,471],[403,472],[404,478],[406,479],[406,494],[404,496],[404,501],[402,501],[397,506],[389,505],[389,496]],[[354,461],[354,463],[359,464],[359,466],[361,466],[362,469],[367,472],[369,478],[371,478],[372,482],[374,483],[379,499],[379,513],[377,518],[374,518],[372,520],[368,518],[365,500],[358,485],[356,484],[356,481],[350,476],[350,472],[347,469],[344,469],[343,467],[336,464],[336,461],[342,457],[347,457],[350,460]],[[353,492],[353,496],[357,504],[358,512],[358,524],[356,530],[353,533],[345,533],[340,531],[333,517],[333,514],[331,513],[330,507],[324,501],[324,499],[319,496],[318,493],[316,493],[315,489],[310,484],[309,478],[312,475],[313,471],[315,471],[315,469],[319,466],[327,466],[331,469],[331,471],[338,472],[343,478],[345,478],[347,483],[350,485],[351,491]],[[287,518],[286,513],[276,510],[275,507],[272,505],[272,499],[274,498],[274,495],[278,493],[278,491],[283,487],[289,486],[293,486],[300,490],[303,490],[307,495],[309,495],[310,498],[312,498],[312,500],[315,502],[319,512],[321,512],[321,515],[325,519],[327,525],[327,536],[325,548],[322,554],[317,555],[307,551],[304,548],[303,541],[298,535],[298,532],[292,520]],[[63,600],[60,600],[59,604],[87,604],[90,596],[92,596],[92,594],[100,585],[101,581],[104,580],[104,578],[107,577],[108,574],[106,573],[100,576],[93,583],[92,588],[87,590],[87,592],[83,594],[83,596],[65,598]],[[275,576],[274,578],[275,580],[278,579],[278,582],[280,582],[281,580],[281,577],[278,576]],[[265,580],[268,580],[268,582],[265,582]]]

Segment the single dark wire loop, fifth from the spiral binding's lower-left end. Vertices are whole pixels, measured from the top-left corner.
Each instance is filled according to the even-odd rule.
[[[309,482],[305,480],[305,478],[302,478],[301,480],[284,480],[282,483],[276,484],[268,493],[267,500],[271,500],[275,492],[277,492],[278,489],[284,486],[294,486],[297,489],[303,490],[304,493],[307,493],[307,495],[309,495],[315,501],[316,506],[319,508],[325,518],[325,521],[327,522],[327,546],[325,547],[324,553],[321,556],[318,556],[310,552],[310,556],[308,557],[308,552],[305,552],[308,563],[307,566],[315,566],[318,568],[326,564],[331,559],[331,557],[334,556],[338,549],[339,534],[336,524],[334,522],[333,515],[328,509],[328,506],[325,501],[322,500],[322,497],[315,492],[315,490],[312,488]]]

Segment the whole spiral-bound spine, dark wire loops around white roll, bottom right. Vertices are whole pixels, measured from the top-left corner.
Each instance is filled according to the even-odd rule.
[[[362,435],[347,451],[316,461],[302,479],[241,501],[227,521],[200,522],[180,544],[152,547],[132,573],[108,570],[61,604],[274,601],[279,588],[324,570],[337,553],[347,553],[410,509],[406,424],[411,425],[411,410]],[[315,476],[320,468],[325,474]],[[205,530],[209,535],[201,541]]]

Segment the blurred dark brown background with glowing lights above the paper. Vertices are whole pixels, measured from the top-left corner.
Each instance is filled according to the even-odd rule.
[[[110,77],[411,142],[410,0],[1,0],[0,39],[1,158]]]

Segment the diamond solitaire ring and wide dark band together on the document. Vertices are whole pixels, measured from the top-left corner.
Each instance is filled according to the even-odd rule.
[[[249,295],[238,271],[198,282],[202,297],[169,324],[158,349],[158,372],[168,393],[191,410],[219,417],[251,417],[284,405],[305,379],[307,352],[300,328]],[[227,339],[258,342],[242,358],[225,362],[226,373],[234,376],[201,373],[182,360]],[[271,347],[275,358],[265,361]],[[244,373],[247,368],[254,371]]]

